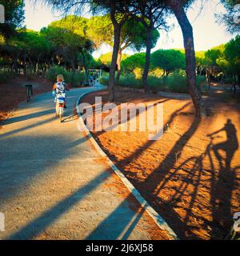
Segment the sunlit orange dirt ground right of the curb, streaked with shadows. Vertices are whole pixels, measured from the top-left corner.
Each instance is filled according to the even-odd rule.
[[[106,103],[106,91],[83,102],[95,106],[95,96]],[[102,149],[180,238],[226,238],[240,211],[240,105],[206,97],[210,116],[198,121],[190,100],[117,90],[115,103],[122,102],[162,102],[164,134],[151,141],[148,131],[121,131],[122,126],[94,131]]]

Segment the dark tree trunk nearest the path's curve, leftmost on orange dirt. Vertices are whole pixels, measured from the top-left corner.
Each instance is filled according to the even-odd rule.
[[[118,24],[114,24],[114,50],[112,61],[110,65],[110,76],[109,76],[109,86],[108,86],[108,101],[114,102],[114,82],[115,82],[115,70],[118,60],[118,49],[120,44],[120,33],[121,33],[121,26]]]

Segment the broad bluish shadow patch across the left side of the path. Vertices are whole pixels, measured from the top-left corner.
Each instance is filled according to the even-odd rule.
[[[74,148],[87,142],[88,138],[83,137],[74,141],[62,138],[59,141],[58,136],[21,136],[16,138],[16,140],[18,141],[18,146],[15,145],[15,140],[6,138],[6,142],[9,142],[9,145],[6,145],[2,140],[3,143],[0,150],[0,184],[4,184],[4,186],[0,186],[0,205],[2,206],[10,198],[21,194],[30,182],[34,182],[35,178],[41,178],[40,175],[44,177],[46,172],[56,162],[70,158],[73,154],[78,154],[78,151],[74,150]],[[65,149],[64,151],[58,151],[57,156],[54,154],[55,143]],[[34,144],[38,145],[38,147],[32,147]],[[12,145],[15,145],[14,149]],[[22,149],[22,145],[25,146],[24,150],[19,150],[19,147]],[[84,146],[82,145],[81,147],[83,150]],[[38,161],[40,151],[41,158]],[[16,154],[14,159],[12,158],[12,154]],[[86,157],[90,157],[90,154],[86,154]],[[30,166],[28,162],[31,162]]]

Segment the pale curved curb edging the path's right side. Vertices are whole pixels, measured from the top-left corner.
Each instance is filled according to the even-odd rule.
[[[102,89],[99,89],[102,90]],[[98,153],[102,155],[102,157],[106,158],[107,162],[109,162],[110,167],[112,170],[114,170],[114,173],[118,175],[119,178],[121,178],[124,185],[130,190],[130,192],[134,195],[134,197],[138,200],[142,208],[146,210],[146,212],[150,215],[151,218],[154,219],[154,222],[160,227],[161,230],[165,230],[170,238],[170,240],[179,240],[177,234],[174,233],[174,230],[170,228],[170,226],[166,223],[166,221],[154,210],[152,206],[144,198],[142,198],[142,195],[138,192],[138,190],[133,186],[133,184],[126,178],[124,174],[122,174],[122,171],[118,169],[117,166],[114,165],[114,163],[108,158],[108,156],[105,154],[105,152],[102,150],[102,148],[98,145],[98,142],[94,139],[92,134],[90,134],[90,131],[86,128],[86,125],[84,121],[82,120],[82,116],[80,114],[78,105],[80,104],[83,97],[86,96],[86,94],[90,94],[97,90],[91,90],[85,94],[82,94],[76,103],[76,109],[79,116],[79,121],[81,122],[81,125],[86,132],[87,136],[90,138],[90,142],[95,146],[96,150],[98,150]]]

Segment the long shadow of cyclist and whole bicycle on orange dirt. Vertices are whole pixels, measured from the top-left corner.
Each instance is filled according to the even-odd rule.
[[[226,133],[226,141],[214,144],[214,138],[222,138],[220,136],[213,137],[221,132]],[[196,157],[191,157],[182,162],[180,166],[166,178],[165,182],[158,189],[162,190],[166,182],[171,178],[176,178],[177,173],[180,170],[187,172],[185,178],[182,179],[182,183],[175,190],[174,195],[169,199],[172,206],[178,206],[178,203],[184,198],[184,196],[190,193],[190,202],[186,209],[186,216],[183,220],[184,226],[192,225],[191,221],[196,218],[196,214],[193,211],[194,204],[200,204],[206,206],[206,198],[201,195],[199,199],[200,187],[202,189],[203,180],[210,177],[210,187],[208,188],[210,194],[210,218],[203,217],[202,226],[210,226],[210,238],[211,239],[223,239],[226,238],[227,231],[232,226],[232,199],[233,192],[237,189],[236,172],[237,168],[231,168],[231,162],[234,158],[235,152],[238,150],[238,138],[237,130],[230,119],[227,119],[225,126],[222,129],[215,131],[212,134],[208,134],[210,142],[206,146],[206,150]],[[225,157],[224,157],[225,155]],[[215,161],[215,159],[217,161]],[[205,163],[210,162],[210,170],[206,170]],[[193,162],[190,170],[186,167],[190,162]],[[206,175],[204,172],[208,172]],[[205,177],[203,177],[205,175]],[[190,192],[190,186],[194,186]],[[201,190],[202,191],[202,190]],[[197,202],[198,200],[198,202]],[[194,226],[193,226],[194,227]]]

